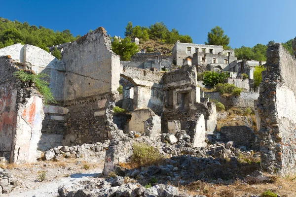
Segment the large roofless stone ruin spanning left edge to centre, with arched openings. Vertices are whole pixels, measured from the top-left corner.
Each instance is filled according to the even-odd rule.
[[[167,73],[122,68],[104,28],[63,50],[60,61],[32,45],[0,49],[0,156],[9,161],[34,162],[37,150],[95,143],[123,131],[154,139],[161,132],[188,132],[194,146],[202,146],[205,131],[215,130],[215,105],[200,101],[195,66]],[[44,106],[34,83],[13,76],[18,69],[46,73],[57,103]],[[120,76],[123,99],[117,91]],[[114,114],[115,105],[131,115]]]

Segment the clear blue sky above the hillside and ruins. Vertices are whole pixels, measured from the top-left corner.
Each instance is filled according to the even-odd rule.
[[[2,2],[1,2],[2,1]],[[296,0],[0,0],[0,16],[27,21],[75,35],[103,26],[108,34],[124,37],[134,26],[164,22],[203,44],[207,33],[220,26],[232,48],[285,42],[296,36]]]

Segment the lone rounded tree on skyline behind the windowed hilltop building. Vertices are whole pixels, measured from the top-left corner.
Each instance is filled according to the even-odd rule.
[[[223,49],[229,49],[230,46],[228,46],[230,41],[230,38],[224,34],[224,31],[221,27],[216,26],[211,30],[211,32],[208,33],[208,42],[205,42],[205,44],[210,45],[222,45]]]

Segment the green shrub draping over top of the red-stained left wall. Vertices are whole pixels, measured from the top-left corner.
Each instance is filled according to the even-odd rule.
[[[56,100],[52,96],[52,92],[48,87],[49,83],[44,80],[44,78],[48,77],[47,74],[43,74],[43,73],[34,74],[34,73],[25,72],[24,70],[18,70],[14,72],[13,75],[19,78],[23,82],[26,82],[26,81],[33,82],[36,85],[39,93],[43,96],[44,104],[56,103]]]

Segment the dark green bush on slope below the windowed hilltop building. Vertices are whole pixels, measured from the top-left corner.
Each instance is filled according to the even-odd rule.
[[[215,71],[205,71],[203,72],[203,84],[206,86],[215,86],[218,83],[224,82],[225,79],[230,77],[229,72],[215,72]]]

